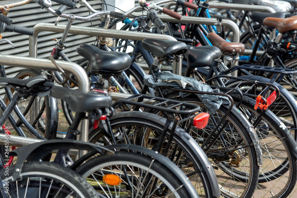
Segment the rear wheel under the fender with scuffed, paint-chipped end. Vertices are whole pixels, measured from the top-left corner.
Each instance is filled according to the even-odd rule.
[[[200,105],[201,107],[205,107],[205,105],[200,102],[200,100],[196,97],[196,96],[187,96],[184,98],[181,98],[180,96],[167,96],[170,99],[174,99],[174,100],[178,100],[178,101],[182,101],[182,102],[189,102],[189,103],[196,103],[198,105]],[[201,112],[207,112],[206,108],[201,108],[200,110]],[[228,105],[221,105],[221,107],[219,108],[219,110],[214,114],[214,117],[216,118],[215,120],[217,121],[217,119],[219,119],[222,115],[225,115],[228,111]],[[220,114],[220,115],[219,115]],[[248,132],[247,132],[247,127],[243,125],[242,121],[240,120],[240,118],[242,118],[243,116],[241,115],[241,113],[236,109],[236,107],[233,107],[231,109],[231,112],[229,113],[229,115],[227,116],[227,120],[229,121],[229,125],[225,127],[225,134],[223,135],[225,140],[228,140],[228,137],[233,137],[235,136],[235,134],[239,134],[238,138],[230,138],[230,141],[228,143],[228,145],[230,144],[231,147],[230,148],[236,148],[236,145],[232,145],[232,143],[234,142],[236,144],[236,141],[239,142],[239,139],[243,139],[244,140],[244,146],[247,148],[247,150],[242,150],[241,148],[237,148],[238,151],[234,151],[236,152],[235,154],[233,153],[232,155],[234,155],[233,157],[236,156],[240,156],[240,159],[242,161],[242,159],[244,159],[244,153],[248,153],[249,158],[245,159],[244,161],[240,161],[241,166],[243,167],[242,169],[245,169],[245,165],[249,166],[249,170],[247,170],[247,172],[249,173],[245,173],[248,174],[249,177],[245,176],[245,181],[241,180],[241,185],[240,183],[236,184],[236,182],[234,182],[235,180],[238,181],[238,174],[244,175],[243,173],[241,173],[239,170],[240,168],[238,168],[238,170],[235,170],[235,163],[234,164],[229,164],[229,167],[234,166],[233,168],[230,168],[228,170],[228,166],[227,166],[227,161],[228,160],[223,160],[223,159],[216,159],[215,157],[211,157],[214,156],[215,153],[206,153],[206,156],[208,157],[208,159],[211,161],[212,164],[214,164],[218,170],[221,169],[221,171],[219,172],[218,170],[215,171],[217,174],[217,179],[219,182],[219,186],[220,186],[220,190],[221,190],[221,195],[223,197],[252,197],[253,192],[256,189],[257,184],[255,183],[255,181],[258,180],[259,177],[259,166],[257,164],[257,159],[255,158],[256,156],[256,150],[255,147],[252,143],[252,139],[249,136]],[[212,131],[212,129],[214,128],[215,124],[211,123],[211,119],[209,119],[208,125],[202,129],[203,132],[199,131],[198,129],[196,129],[196,131],[192,128],[190,135],[196,140],[196,142],[200,142],[203,143],[203,141],[205,140],[206,136],[209,134],[210,131]],[[231,130],[232,129],[232,130]],[[234,131],[234,129],[236,129],[236,131]],[[209,131],[209,132],[208,132]],[[230,132],[233,131],[233,132]],[[201,135],[200,135],[201,134]],[[199,136],[200,135],[200,136]],[[236,136],[235,136],[236,137]],[[238,140],[236,140],[238,139]],[[219,140],[217,139],[216,142],[218,143],[216,145],[216,148],[220,148],[222,147],[223,143],[220,142],[223,140]],[[233,141],[233,142],[232,142]],[[248,146],[249,145],[249,146]],[[251,146],[252,145],[252,146]],[[222,148],[221,148],[222,149]],[[228,148],[227,148],[228,149]],[[225,151],[227,151],[227,149]],[[241,150],[240,150],[241,149]],[[232,149],[231,149],[232,150]],[[215,152],[215,151],[213,151]],[[217,153],[217,156],[219,152]],[[222,150],[222,154],[224,154],[224,150]],[[231,156],[232,157],[232,156]],[[230,157],[230,159],[231,159]],[[233,159],[232,157],[232,159]],[[234,159],[237,159],[234,158]],[[233,161],[233,160],[231,160]],[[247,162],[245,161],[249,161],[249,165]],[[239,164],[240,164],[239,163]],[[237,166],[239,165],[237,164]],[[229,172],[228,175],[229,177],[231,177],[230,179],[226,179],[225,175],[226,172]],[[224,183],[224,180],[228,182]],[[234,183],[232,183],[232,181]],[[231,185],[233,185],[231,187]],[[233,189],[232,189],[233,188]],[[235,189],[238,188],[238,189]],[[241,188],[241,189],[240,189]],[[244,189],[244,190],[242,190]]]

